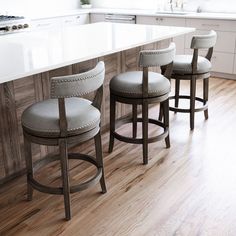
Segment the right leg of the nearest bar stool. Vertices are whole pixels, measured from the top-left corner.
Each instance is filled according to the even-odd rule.
[[[101,142],[100,131],[94,137],[94,142],[95,142],[95,149],[96,149],[96,159],[97,159],[99,167],[102,168],[102,177],[100,179],[100,185],[102,188],[102,193],[106,193],[107,189],[106,189],[105,176],[104,176],[103,153],[102,153],[102,142]]]

